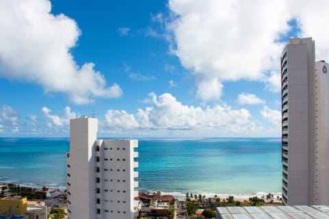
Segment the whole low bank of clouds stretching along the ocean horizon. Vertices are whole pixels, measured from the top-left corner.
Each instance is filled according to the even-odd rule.
[[[276,136],[280,133],[281,114],[264,105],[263,118],[273,123],[271,132],[265,129],[257,118],[245,108],[233,109],[229,105],[212,107],[193,107],[183,105],[175,96],[164,93],[157,96],[149,94],[149,107],[139,108],[135,114],[125,110],[108,110],[105,120],[99,120],[99,133],[110,136],[134,137],[225,137],[248,136],[256,133],[260,137],[266,134]],[[62,112],[54,113],[48,107],[42,107],[43,118],[35,115],[20,116],[9,105],[0,110],[0,133],[20,130],[21,133],[34,135],[69,135],[69,120],[77,118],[80,113],[73,112],[66,106]],[[19,119],[21,118],[21,119]],[[23,118],[23,119],[22,119]],[[26,121],[29,120],[29,125]],[[10,131],[12,132],[12,131]],[[269,137],[266,136],[266,137]]]

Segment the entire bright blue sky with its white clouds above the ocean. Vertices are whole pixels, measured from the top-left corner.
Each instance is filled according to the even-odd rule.
[[[298,7],[296,7],[298,5]],[[326,0],[2,0],[0,137],[279,137],[280,55]]]

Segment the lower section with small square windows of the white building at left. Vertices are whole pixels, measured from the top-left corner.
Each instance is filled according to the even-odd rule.
[[[103,195],[104,218],[134,218],[134,148],[137,140],[103,140]]]

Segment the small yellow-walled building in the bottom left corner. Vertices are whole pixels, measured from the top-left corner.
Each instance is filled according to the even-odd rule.
[[[7,215],[9,208],[12,208],[12,214],[27,214],[27,198],[5,197],[0,199],[0,215]]]

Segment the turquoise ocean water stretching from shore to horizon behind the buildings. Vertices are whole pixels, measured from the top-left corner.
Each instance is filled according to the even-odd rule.
[[[138,190],[281,191],[280,138],[138,140]],[[0,182],[65,188],[68,138],[0,138]]]

